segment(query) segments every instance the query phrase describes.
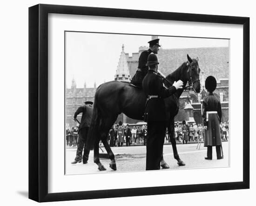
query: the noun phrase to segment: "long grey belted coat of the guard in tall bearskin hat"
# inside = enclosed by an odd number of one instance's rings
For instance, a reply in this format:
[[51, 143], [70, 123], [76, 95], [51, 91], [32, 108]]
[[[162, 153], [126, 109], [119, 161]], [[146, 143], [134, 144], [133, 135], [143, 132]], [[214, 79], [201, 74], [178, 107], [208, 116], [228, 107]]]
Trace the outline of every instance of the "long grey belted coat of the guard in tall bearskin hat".
[[[206, 112], [216, 111], [217, 113], [209, 114], [206, 121]], [[202, 102], [203, 125], [207, 126], [204, 135], [204, 146], [221, 145], [220, 122], [222, 118], [221, 102], [213, 93], [209, 93]]]

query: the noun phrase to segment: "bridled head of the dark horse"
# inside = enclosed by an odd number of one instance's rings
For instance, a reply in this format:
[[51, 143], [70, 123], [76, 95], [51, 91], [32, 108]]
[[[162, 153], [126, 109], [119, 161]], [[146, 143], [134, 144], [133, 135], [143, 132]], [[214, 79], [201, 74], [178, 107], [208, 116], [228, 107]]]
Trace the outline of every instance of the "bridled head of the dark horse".
[[189, 87], [196, 92], [200, 92], [200, 68], [198, 65], [198, 57], [196, 59], [191, 59], [189, 54], [187, 54], [188, 63], [187, 63], [187, 78], [189, 81]]

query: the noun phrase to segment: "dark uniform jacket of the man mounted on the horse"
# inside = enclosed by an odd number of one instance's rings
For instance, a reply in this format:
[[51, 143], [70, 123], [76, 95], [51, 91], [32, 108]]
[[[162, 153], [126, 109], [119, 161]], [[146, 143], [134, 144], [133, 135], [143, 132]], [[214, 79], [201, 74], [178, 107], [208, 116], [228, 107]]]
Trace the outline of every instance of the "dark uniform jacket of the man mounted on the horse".
[[148, 55], [150, 53], [152, 53], [150, 49], [141, 53], [139, 57], [139, 64], [138, 64], [138, 69], [140, 69], [141, 71], [136, 71], [134, 77], [131, 80], [132, 84], [137, 82], [142, 82], [143, 78], [148, 73], [148, 66], [146, 66], [146, 64], [148, 62]]

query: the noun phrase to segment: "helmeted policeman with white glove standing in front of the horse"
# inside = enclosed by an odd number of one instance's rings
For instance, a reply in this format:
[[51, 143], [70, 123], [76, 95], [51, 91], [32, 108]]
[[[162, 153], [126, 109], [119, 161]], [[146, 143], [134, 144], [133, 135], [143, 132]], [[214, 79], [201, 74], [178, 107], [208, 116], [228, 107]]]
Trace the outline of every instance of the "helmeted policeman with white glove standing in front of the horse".
[[163, 86], [162, 77], [157, 74], [158, 60], [154, 53], [149, 54], [147, 66], [149, 70], [142, 81], [142, 88], [148, 97], [144, 120], [148, 122], [148, 142], [146, 155], [146, 170], [159, 170], [162, 148], [167, 127], [168, 115], [164, 99], [181, 89], [183, 82], [175, 81], [168, 89]]

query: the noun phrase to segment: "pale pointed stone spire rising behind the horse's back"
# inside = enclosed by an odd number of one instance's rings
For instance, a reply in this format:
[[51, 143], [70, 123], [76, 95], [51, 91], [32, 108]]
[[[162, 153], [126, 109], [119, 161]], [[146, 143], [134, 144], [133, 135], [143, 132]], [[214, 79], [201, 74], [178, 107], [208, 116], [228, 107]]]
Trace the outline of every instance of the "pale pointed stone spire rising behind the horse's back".
[[129, 82], [131, 79], [126, 55], [124, 53], [124, 45], [122, 45], [122, 51], [119, 57], [119, 62], [116, 69], [115, 80]]

